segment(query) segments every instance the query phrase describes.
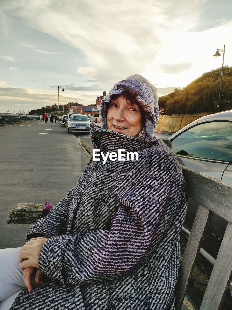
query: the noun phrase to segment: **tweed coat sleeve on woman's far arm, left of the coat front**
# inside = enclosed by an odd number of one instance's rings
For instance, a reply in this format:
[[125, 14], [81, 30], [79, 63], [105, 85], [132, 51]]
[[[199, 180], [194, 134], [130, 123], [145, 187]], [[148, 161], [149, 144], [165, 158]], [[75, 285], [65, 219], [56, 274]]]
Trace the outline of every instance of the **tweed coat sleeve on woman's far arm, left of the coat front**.
[[[80, 176], [78, 181], [79, 186], [81, 186], [86, 175], [88, 174], [89, 163]], [[66, 233], [70, 204], [75, 196], [75, 191], [76, 188], [71, 189], [71, 191], [67, 193], [66, 197], [60, 200], [47, 216], [38, 220], [29, 228], [29, 231], [26, 234], [26, 239], [28, 241], [30, 238], [36, 238], [39, 236], [46, 235], [48, 237], [54, 237]]]

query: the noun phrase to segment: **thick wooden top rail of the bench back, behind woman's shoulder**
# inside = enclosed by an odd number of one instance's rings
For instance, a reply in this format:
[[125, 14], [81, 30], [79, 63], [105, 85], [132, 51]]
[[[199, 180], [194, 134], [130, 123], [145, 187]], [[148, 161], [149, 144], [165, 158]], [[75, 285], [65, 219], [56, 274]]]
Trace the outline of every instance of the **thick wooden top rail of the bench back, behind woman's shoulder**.
[[186, 195], [232, 223], [232, 185], [185, 166], [181, 168]]

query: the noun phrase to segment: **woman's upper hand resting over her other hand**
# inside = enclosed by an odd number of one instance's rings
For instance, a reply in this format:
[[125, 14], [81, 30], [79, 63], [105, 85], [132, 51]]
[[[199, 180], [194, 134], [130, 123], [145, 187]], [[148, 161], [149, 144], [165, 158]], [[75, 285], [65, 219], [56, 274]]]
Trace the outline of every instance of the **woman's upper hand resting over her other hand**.
[[39, 269], [40, 251], [46, 240], [47, 238], [44, 237], [32, 238], [26, 242], [25, 246], [22, 246], [19, 253], [19, 260], [21, 261], [19, 264], [20, 268], [35, 267]]

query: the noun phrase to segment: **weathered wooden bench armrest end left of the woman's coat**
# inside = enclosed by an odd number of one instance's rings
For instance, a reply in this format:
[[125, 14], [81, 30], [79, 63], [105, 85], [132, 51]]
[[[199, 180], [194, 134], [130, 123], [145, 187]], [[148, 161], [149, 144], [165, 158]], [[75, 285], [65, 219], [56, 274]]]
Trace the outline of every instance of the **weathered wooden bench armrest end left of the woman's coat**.
[[[8, 224], [31, 224], [41, 218], [44, 205], [36, 203], [17, 203], [11, 208], [8, 216]], [[54, 206], [50, 207], [52, 210]]]

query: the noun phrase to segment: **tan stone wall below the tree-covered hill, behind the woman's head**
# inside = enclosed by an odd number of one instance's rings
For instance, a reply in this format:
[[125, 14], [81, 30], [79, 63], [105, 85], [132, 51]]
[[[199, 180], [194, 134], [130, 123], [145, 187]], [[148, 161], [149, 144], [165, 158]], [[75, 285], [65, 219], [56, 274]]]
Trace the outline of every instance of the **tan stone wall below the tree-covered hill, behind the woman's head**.
[[191, 122], [195, 121], [196, 119], [213, 114], [211, 113], [193, 113], [193, 114], [172, 114], [172, 116], [169, 115], [163, 115], [160, 116], [159, 122], [156, 126], [156, 130], [159, 131], [166, 131], [170, 133], [177, 132], [184, 126], [190, 124]]

